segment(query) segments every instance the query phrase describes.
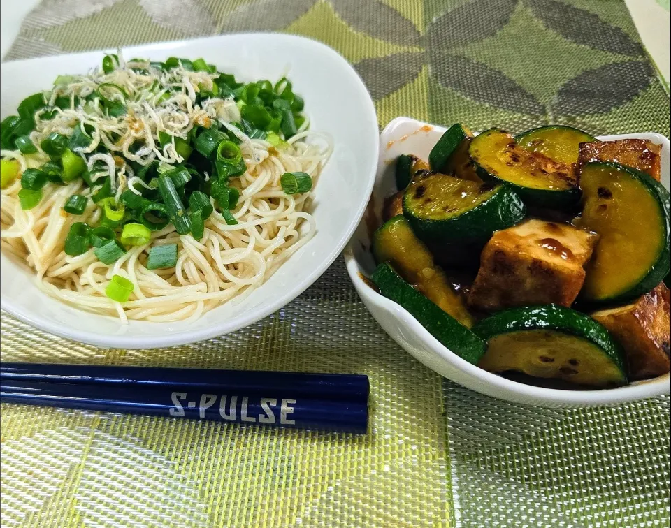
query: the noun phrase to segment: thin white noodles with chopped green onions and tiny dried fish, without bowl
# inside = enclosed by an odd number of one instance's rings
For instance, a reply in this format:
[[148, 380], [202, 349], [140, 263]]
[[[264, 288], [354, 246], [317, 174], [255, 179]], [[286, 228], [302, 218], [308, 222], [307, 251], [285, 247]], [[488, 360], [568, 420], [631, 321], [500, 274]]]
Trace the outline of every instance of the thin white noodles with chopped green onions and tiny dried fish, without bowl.
[[243, 85], [202, 59], [62, 75], [2, 122], [1, 249], [75, 307], [198, 318], [315, 234], [332, 147], [302, 110], [287, 79]]

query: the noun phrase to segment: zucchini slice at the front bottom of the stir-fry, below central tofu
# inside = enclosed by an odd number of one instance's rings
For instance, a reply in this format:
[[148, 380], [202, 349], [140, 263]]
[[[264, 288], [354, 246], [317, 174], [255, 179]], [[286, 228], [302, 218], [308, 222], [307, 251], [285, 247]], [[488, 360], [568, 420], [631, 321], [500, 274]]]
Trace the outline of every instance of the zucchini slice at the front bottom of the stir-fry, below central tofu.
[[589, 316], [557, 305], [500, 311], [473, 327], [487, 342], [478, 366], [523, 372], [582, 386], [627, 382], [625, 356], [608, 330]]

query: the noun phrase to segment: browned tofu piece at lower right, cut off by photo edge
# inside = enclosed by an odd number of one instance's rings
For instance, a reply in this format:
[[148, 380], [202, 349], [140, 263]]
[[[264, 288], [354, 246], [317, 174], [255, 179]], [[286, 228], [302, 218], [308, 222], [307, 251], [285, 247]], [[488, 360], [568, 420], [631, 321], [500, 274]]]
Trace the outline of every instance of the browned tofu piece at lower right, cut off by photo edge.
[[671, 302], [665, 284], [630, 305], [597, 311], [591, 316], [623, 346], [630, 379], [654, 378], [669, 372]]

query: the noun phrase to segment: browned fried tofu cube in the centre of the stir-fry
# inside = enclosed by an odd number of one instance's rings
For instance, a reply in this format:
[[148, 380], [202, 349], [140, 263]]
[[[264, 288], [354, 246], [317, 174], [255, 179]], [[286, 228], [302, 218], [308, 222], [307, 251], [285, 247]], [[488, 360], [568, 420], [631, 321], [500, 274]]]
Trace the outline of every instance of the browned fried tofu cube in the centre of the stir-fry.
[[482, 311], [556, 303], [569, 307], [585, 281], [596, 233], [568, 223], [527, 220], [494, 233], [468, 296]]

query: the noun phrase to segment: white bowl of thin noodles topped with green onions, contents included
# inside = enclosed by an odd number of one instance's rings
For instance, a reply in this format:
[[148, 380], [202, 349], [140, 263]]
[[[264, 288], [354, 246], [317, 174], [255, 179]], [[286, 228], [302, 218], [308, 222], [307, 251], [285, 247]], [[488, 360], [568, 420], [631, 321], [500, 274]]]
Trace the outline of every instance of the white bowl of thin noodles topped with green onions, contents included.
[[113, 348], [293, 300], [366, 208], [377, 120], [306, 38], [241, 34], [1, 66], [1, 303]]

